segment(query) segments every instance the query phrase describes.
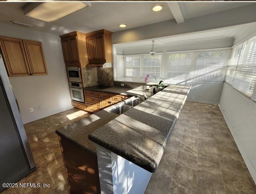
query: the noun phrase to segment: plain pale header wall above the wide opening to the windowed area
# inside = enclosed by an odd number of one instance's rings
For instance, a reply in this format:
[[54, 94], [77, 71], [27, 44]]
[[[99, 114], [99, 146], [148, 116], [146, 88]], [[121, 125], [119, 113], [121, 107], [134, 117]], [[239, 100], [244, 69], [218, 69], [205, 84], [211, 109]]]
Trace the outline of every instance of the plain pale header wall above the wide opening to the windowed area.
[[112, 34], [112, 43], [133, 42], [255, 22], [255, 10], [256, 3], [204, 16], [189, 18], [186, 19], [184, 23], [180, 24], [177, 24], [175, 20], [168, 20], [122, 30]]

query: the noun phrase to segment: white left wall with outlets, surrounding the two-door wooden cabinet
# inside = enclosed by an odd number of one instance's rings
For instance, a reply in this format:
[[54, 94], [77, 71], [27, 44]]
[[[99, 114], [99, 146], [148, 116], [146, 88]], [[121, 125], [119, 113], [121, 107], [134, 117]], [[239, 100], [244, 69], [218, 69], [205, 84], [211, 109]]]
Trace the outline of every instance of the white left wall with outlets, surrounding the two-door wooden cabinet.
[[[48, 75], [9, 77], [24, 124], [73, 108], [58, 36], [14, 24], [0, 24], [0, 36], [42, 42]], [[34, 112], [29, 112], [30, 107]]]

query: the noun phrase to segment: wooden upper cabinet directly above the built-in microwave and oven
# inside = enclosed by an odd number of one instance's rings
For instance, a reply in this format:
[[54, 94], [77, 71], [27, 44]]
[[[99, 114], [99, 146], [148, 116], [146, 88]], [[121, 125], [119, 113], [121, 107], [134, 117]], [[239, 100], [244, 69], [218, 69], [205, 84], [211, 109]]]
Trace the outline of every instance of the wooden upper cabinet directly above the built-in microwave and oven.
[[65, 64], [85, 67], [88, 63], [86, 36], [81, 32], [70, 32], [60, 36]]

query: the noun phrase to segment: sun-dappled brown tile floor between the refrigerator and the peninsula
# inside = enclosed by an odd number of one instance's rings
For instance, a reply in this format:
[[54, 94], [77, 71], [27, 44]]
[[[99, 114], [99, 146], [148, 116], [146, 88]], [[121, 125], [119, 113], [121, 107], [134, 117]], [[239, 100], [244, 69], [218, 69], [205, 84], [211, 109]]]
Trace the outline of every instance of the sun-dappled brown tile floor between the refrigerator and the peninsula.
[[62, 160], [57, 128], [85, 118], [90, 114], [73, 108], [34, 122], [25, 124], [36, 171], [18, 183], [46, 183], [50, 188], [8, 188], [3, 194], [67, 194], [69, 188]]

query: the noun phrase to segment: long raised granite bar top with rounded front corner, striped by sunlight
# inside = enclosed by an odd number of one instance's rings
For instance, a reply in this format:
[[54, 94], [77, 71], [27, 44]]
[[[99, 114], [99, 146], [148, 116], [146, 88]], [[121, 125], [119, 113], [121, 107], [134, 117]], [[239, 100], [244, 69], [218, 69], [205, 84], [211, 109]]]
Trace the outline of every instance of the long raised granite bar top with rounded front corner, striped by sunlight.
[[89, 139], [155, 172], [189, 90], [190, 86], [170, 85], [101, 126]]

